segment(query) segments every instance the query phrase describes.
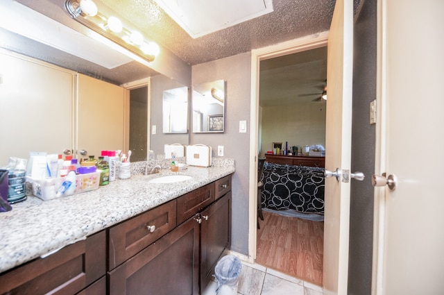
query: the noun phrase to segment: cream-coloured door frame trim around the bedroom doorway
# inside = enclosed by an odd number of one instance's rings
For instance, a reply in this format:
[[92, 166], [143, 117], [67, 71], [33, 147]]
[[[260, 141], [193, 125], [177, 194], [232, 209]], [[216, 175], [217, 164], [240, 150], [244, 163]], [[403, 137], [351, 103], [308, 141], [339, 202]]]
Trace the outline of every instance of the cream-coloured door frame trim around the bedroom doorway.
[[[268, 60], [271, 58], [277, 58], [280, 56], [287, 56], [292, 53], [308, 51], [310, 49], [317, 49], [320, 47], [327, 46], [327, 32], [304, 37], [299, 40], [293, 40], [291, 42], [286, 42], [284, 44], [278, 44], [273, 47], [267, 47], [266, 49], [257, 49], [252, 52], [252, 97], [256, 99], [252, 99], [251, 101], [251, 109], [250, 109], [250, 121], [252, 130], [250, 133], [250, 154], [257, 155], [258, 152], [261, 151], [259, 147], [259, 80], [260, 80], [260, 62], [262, 60]], [[255, 75], [255, 76], [254, 76]], [[263, 155], [264, 151], [262, 151]], [[252, 253], [252, 258], [255, 260], [257, 258], [257, 230], [253, 230], [253, 228], [257, 228], [257, 197], [255, 193], [257, 189], [255, 189], [255, 185], [257, 184], [257, 159], [254, 158], [250, 160], [250, 239], [248, 244], [249, 253]], [[256, 167], [256, 168], [253, 168]], [[321, 285], [321, 284], [320, 284]]]

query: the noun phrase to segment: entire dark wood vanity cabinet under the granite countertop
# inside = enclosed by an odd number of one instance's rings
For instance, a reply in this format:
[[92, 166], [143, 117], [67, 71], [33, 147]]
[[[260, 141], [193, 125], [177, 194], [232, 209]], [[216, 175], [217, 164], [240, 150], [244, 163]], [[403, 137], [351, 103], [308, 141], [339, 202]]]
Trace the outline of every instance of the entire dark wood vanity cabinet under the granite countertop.
[[200, 294], [231, 244], [231, 199], [229, 175], [1, 273], [0, 294]]

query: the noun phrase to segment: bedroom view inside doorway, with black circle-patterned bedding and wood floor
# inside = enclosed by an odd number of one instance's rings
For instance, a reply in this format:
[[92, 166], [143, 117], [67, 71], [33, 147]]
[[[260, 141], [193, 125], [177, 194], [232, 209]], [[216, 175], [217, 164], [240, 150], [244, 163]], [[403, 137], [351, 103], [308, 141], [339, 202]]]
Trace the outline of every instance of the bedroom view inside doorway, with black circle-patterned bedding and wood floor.
[[[300, 150], [325, 146], [327, 47], [261, 60], [259, 73], [258, 146], [266, 165], [256, 263], [322, 285], [323, 160], [309, 162]], [[271, 156], [276, 142], [280, 155]]]

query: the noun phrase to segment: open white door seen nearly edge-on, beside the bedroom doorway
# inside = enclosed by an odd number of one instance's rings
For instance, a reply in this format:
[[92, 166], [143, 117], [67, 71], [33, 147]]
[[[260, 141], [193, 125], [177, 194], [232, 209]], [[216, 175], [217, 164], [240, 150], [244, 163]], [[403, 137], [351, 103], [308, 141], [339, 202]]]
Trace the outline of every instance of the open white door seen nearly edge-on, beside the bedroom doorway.
[[[353, 3], [338, 0], [327, 43], [325, 169], [350, 169]], [[347, 294], [350, 183], [325, 178], [324, 294]]]

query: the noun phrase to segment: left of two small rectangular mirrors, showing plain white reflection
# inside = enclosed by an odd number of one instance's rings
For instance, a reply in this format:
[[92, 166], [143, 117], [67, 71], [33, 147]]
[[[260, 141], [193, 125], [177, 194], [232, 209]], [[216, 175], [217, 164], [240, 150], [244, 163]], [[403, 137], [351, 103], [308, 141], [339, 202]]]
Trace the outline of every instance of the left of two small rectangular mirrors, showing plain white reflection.
[[164, 90], [162, 116], [164, 133], [188, 132], [188, 87]]

